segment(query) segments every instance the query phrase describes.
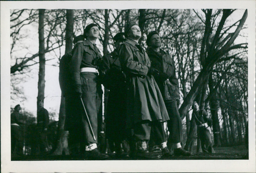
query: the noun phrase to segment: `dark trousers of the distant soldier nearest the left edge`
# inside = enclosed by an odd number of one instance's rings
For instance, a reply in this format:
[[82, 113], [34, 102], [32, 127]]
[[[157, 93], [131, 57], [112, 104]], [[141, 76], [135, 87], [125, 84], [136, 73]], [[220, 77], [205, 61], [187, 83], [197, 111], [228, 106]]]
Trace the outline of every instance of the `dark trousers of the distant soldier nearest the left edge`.
[[16, 153], [22, 153], [23, 145], [20, 134], [20, 126], [11, 125], [11, 153], [15, 152], [15, 147]]

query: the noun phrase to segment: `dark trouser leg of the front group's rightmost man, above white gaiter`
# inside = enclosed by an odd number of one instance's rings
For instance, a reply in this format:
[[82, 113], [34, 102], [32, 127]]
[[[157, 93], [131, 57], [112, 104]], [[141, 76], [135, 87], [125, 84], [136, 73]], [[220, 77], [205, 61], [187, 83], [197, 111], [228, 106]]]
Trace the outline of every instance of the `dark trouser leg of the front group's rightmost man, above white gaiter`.
[[167, 127], [170, 132], [168, 142], [177, 144], [182, 141], [182, 124], [177, 100], [165, 102], [165, 107], [170, 118], [170, 120], [167, 121]]

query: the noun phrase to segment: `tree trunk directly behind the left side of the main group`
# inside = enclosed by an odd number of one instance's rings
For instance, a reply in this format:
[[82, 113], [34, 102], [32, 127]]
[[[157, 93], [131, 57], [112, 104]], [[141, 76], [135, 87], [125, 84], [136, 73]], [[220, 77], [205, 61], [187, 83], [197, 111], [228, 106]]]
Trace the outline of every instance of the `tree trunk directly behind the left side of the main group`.
[[[66, 10], [66, 46], [65, 46], [65, 53], [72, 51], [73, 45], [73, 28], [74, 28], [74, 11], [73, 10]], [[57, 132], [57, 145], [56, 149], [54, 150], [53, 154], [61, 155], [69, 154], [68, 149], [68, 131], [64, 131], [64, 124], [65, 124], [65, 98], [61, 94], [60, 100], [60, 113], [59, 113], [59, 122], [58, 122], [58, 132]]]

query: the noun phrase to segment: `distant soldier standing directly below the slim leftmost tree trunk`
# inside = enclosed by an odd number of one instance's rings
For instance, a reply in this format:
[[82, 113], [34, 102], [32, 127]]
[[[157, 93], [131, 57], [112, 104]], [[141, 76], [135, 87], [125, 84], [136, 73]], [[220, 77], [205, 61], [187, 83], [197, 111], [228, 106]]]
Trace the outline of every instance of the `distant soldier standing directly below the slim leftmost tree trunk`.
[[39, 133], [39, 148], [41, 152], [48, 152], [47, 129], [49, 125], [49, 113], [44, 108], [44, 101], [39, 100], [37, 110], [37, 128]]

